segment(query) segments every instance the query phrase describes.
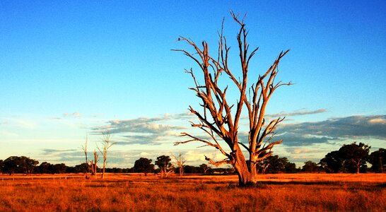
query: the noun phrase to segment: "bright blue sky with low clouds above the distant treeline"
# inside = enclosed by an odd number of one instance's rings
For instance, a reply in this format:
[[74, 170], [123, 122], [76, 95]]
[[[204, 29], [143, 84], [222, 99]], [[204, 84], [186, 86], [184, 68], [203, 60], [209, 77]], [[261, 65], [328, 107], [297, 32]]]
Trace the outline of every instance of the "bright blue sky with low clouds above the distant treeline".
[[75, 165], [100, 129], [117, 142], [108, 166], [179, 152], [192, 165], [204, 154], [221, 159], [200, 143], [172, 146], [180, 132], [199, 132], [189, 128], [187, 107], [198, 100], [184, 73], [197, 66], [170, 49], [189, 49], [175, 42], [182, 35], [216, 54], [225, 18], [238, 73], [230, 10], [247, 12], [249, 43], [259, 47], [251, 76], [291, 49], [279, 78], [295, 85], [267, 111], [287, 117], [275, 153], [301, 165], [343, 143], [386, 147], [385, 1], [0, 1], [0, 159]]

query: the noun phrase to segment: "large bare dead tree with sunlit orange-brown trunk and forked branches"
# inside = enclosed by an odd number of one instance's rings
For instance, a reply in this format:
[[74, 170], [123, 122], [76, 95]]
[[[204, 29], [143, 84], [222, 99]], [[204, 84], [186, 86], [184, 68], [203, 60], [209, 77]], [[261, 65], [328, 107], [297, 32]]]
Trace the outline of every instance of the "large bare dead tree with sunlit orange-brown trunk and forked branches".
[[[233, 165], [238, 172], [240, 186], [244, 186], [257, 182], [257, 162], [271, 155], [271, 148], [282, 141], [282, 139], [278, 141], [274, 141], [273, 139], [276, 134], [274, 130], [277, 124], [283, 121], [284, 117], [278, 117], [266, 123], [264, 114], [267, 103], [274, 91], [281, 86], [291, 85], [291, 82], [282, 83], [281, 81], [275, 81], [276, 75], [279, 73], [279, 61], [289, 50], [281, 52], [269, 69], [258, 76], [255, 83], [248, 85], [247, 76], [250, 69], [250, 60], [259, 48], [257, 47], [249, 53], [250, 45], [247, 44], [248, 32], [244, 23], [245, 16], [240, 19], [238, 15], [235, 15], [233, 12], [230, 12], [230, 15], [240, 26], [237, 35], [241, 65], [239, 77], [235, 75], [235, 72], [231, 71], [230, 66], [228, 66], [230, 47], [228, 47], [226, 37], [223, 35], [223, 24], [221, 32], [218, 33], [218, 54], [216, 57], [210, 56], [209, 46], [205, 41], [202, 42], [202, 48], [200, 48], [193, 40], [187, 37], [180, 37], [178, 40], [187, 42], [187, 44], [192, 47], [192, 52], [188, 52], [185, 49], [173, 49], [174, 51], [183, 52], [187, 57], [195, 61], [199, 66], [201, 74], [203, 74], [204, 83], [201, 84], [199, 79], [196, 78], [197, 75], [193, 72], [193, 69], [185, 69], [194, 81], [194, 87], [189, 89], [194, 90], [197, 97], [201, 99], [200, 106], [202, 107], [202, 112], [198, 112], [189, 106], [190, 112], [195, 114], [199, 119], [199, 122], [192, 123], [192, 126], [203, 130], [209, 135], [209, 138], [211, 138], [203, 139], [199, 136], [184, 132], [182, 136], [189, 137], [189, 139], [187, 141], [176, 142], [175, 145], [199, 141], [204, 143], [204, 146], [211, 146], [218, 149], [218, 151], [225, 155], [225, 160], [214, 161], [211, 160], [211, 158], [206, 158], [206, 160], [209, 160], [210, 164], [216, 166], [222, 164]], [[235, 90], [238, 90], [238, 101], [235, 105], [231, 105], [231, 103], [227, 101], [226, 94], [228, 86], [225, 88], [221, 88], [220, 86], [221, 83], [219, 80], [221, 76], [224, 75], [230, 78], [235, 86]], [[247, 141], [240, 141], [238, 134], [240, 128], [239, 122], [242, 109], [245, 107], [247, 110], [247, 120], [249, 122], [249, 133]], [[220, 144], [220, 140], [226, 143], [230, 149], [229, 151], [221, 146], [223, 143]], [[248, 159], [250, 165], [247, 165], [247, 160], [241, 148], [245, 148], [245, 151], [249, 154]]]

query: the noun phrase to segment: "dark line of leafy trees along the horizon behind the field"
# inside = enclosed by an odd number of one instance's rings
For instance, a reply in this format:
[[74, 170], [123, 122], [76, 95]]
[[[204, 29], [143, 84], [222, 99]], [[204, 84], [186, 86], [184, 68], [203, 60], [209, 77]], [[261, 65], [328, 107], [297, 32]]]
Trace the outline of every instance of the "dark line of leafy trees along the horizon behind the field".
[[[296, 167], [288, 158], [281, 158], [279, 155], [271, 155], [257, 164], [259, 173], [295, 173], [295, 172], [385, 172], [386, 171], [386, 150], [380, 148], [369, 154], [370, 146], [364, 143], [351, 143], [342, 146], [337, 151], [327, 153], [315, 163], [310, 160], [304, 163], [303, 167]], [[181, 167], [174, 167], [170, 163], [170, 157], [161, 155], [153, 165], [151, 159], [139, 158], [131, 168], [106, 167], [105, 172], [110, 173], [148, 173], [161, 174], [161, 177], [168, 173], [179, 173]], [[371, 168], [368, 167], [371, 164]], [[233, 167], [211, 167], [206, 164], [199, 166], [183, 165], [185, 174], [235, 174]], [[81, 163], [74, 167], [69, 167], [64, 163], [51, 164], [39, 161], [25, 156], [11, 156], [6, 160], [0, 160], [0, 173], [2, 174], [63, 174], [63, 173], [86, 173], [90, 170], [90, 165]], [[97, 168], [100, 172], [100, 168]]]

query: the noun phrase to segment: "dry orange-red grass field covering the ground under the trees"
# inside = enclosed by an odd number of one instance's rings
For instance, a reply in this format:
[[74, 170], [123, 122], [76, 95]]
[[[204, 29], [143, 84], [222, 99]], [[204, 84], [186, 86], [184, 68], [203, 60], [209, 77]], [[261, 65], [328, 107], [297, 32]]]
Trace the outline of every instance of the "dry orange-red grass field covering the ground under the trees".
[[0, 211], [386, 211], [385, 174], [261, 177], [0, 175]]

